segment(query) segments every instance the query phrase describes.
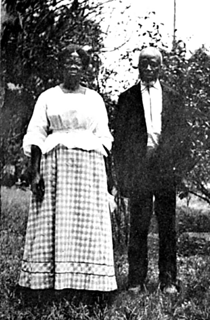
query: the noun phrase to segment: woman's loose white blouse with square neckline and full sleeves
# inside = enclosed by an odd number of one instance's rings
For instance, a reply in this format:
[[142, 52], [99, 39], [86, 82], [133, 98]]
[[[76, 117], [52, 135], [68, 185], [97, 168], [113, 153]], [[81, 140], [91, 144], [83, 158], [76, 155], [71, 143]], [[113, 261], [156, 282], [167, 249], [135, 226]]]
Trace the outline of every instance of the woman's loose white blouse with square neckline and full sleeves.
[[30, 156], [34, 144], [44, 154], [61, 143], [67, 148], [98, 150], [107, 155], [103, 146], [110, 150], [112, 141], [106, 108], [96, 91], [86, 88], [85, 94], [64, 93], [56, 86], [38, 97], [23, 150]]

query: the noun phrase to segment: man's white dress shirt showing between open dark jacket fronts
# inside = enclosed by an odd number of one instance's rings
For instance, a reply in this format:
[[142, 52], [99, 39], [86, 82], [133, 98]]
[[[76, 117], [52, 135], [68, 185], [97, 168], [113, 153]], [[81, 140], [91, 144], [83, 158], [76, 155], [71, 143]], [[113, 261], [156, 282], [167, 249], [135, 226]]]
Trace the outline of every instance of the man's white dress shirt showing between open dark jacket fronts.
[[141, 82], [140, 87], [148, 134], [147, 146], [155, 147], [161, 133], [162, 89], [158, 80], [149, 87]]

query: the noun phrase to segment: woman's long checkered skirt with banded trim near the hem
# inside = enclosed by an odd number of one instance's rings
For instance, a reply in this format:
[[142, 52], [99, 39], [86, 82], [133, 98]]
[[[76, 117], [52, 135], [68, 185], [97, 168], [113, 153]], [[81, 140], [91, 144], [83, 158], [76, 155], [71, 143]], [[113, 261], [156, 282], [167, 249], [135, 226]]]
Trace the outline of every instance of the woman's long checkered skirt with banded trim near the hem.
[[19, 285], [116, 289], [102, 154], [59, 144], [42, 155], [41, 174], [45, 194], [31, 196]]

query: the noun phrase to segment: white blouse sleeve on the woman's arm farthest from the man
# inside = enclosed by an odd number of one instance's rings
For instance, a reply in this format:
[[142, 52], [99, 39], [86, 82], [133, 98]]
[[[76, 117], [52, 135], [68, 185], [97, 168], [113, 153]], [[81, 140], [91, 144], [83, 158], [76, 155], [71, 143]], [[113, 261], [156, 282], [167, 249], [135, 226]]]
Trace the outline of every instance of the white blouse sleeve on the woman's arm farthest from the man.
[[41, 94], [34, 106], [33, 114], [23, 137], [24, 154], [30, 156], [31, 144], [37, 145], [41, 150], [47, 136], [48, 120], [46, 115], [46, 102]]

